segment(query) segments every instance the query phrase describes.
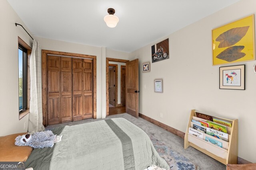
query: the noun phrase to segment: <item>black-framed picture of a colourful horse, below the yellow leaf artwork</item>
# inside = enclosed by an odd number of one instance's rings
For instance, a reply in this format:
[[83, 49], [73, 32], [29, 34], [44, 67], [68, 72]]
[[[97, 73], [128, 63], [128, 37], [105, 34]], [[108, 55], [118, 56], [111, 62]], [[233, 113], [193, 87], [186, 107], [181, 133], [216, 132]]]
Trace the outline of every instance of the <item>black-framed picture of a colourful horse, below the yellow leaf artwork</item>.
[[220, 89], [245, 90], [245, 64], [220, 67]]

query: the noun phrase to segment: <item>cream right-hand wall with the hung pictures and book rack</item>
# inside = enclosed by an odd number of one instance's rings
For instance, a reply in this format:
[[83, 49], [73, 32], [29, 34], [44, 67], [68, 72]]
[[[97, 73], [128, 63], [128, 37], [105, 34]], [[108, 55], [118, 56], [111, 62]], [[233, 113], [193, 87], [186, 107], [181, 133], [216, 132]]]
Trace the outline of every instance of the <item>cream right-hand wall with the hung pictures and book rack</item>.
[[[139, 112], [183, 132], [191, 109], [238, 119], [238, 156], [256, 162], [256, 75], [252, 71], [256, 62], [223, 65], [246, 64], [246, 90], [220, 90], [220, 66], [212, 66], [211, 49], [212, 29], [255, 14], [255, 6], [255, 0], [242, 0], [131, 53], [130, 59], [140, 61]], [[170, 59], [152, 63], [151, 46], [166, 38]], [[151, 70], [142, 73], [146, 61]], [[156, 78], [163, 78], [163, 93], [154, 93]]]

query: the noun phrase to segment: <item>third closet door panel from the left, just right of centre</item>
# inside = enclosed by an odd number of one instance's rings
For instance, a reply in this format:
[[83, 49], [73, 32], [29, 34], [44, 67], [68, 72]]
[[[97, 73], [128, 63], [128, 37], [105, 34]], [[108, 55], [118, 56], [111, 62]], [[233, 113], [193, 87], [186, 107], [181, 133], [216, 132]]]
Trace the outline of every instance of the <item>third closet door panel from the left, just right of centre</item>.
[[72, 86], [73, 86], [73, 105], [72, 105], [72, 114], [73, 121], [82, 120], [82, 59], [72, 58]]

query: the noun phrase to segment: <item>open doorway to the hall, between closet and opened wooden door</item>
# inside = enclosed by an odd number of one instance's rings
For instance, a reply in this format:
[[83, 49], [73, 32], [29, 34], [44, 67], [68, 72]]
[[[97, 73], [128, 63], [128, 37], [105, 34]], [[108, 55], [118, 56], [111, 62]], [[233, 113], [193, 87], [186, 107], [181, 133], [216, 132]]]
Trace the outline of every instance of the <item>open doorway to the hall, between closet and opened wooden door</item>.
[[106, 112], [108, 115], [126, 113], [126, 62], [106, 59]]

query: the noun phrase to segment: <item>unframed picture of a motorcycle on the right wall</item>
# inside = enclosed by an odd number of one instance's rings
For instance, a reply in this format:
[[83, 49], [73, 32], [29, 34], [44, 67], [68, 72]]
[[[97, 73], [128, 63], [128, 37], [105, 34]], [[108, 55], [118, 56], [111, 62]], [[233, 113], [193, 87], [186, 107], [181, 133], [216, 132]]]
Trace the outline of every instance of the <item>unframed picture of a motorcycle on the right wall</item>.
[[169, 39], [151, 46], [152, 63], [169, 59]]

